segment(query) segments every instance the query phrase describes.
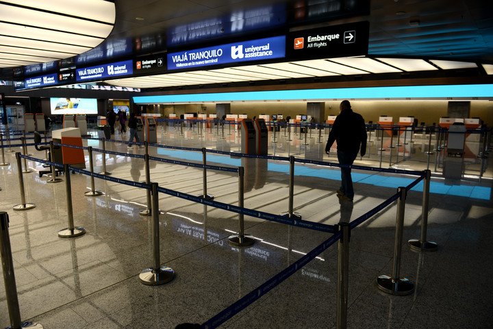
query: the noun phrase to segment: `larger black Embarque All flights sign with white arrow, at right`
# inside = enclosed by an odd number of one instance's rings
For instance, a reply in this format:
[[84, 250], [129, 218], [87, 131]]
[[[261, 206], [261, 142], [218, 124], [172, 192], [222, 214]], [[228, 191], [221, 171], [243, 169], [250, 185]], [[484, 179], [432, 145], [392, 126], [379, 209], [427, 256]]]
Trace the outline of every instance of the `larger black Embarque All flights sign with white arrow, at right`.
[[368, 31], [368, 22], [358, 22], [292, 32], [288, 38], [288, 59], [367, 55]]

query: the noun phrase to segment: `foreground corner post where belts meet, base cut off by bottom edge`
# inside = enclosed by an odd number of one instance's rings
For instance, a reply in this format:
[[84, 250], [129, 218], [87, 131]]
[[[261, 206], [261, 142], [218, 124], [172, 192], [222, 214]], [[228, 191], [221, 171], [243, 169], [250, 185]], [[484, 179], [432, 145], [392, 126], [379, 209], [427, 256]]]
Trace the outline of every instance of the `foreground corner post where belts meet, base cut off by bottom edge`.
[[351, 229], [349, 223], [340, 222], [339, 229], [342, 236], [338, 244], [338, 301], [337, 301], [337, 328], [347, 328], [348, 281], [349, 281], [349, 237]]

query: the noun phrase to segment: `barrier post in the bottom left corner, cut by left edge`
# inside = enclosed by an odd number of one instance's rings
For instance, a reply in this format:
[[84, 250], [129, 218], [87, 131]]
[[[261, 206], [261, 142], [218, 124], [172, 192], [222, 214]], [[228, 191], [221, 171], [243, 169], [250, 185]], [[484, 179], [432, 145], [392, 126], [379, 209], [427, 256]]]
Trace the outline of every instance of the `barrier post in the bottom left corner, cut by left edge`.
[[10, 236], [8, 232], [9, 218], [8, 213], [0, 211], [0, 255], [3, 269], [3, 282], [5, 283], [5, 296], [7, 299], [8, 313], [10, 317], [10, 327], [36, 328], [42, 329], [43, 326], [30, 321], [21, 321], [21, 311], [18, 304], [17, 287], [14, 274], [14, 262], [12, 261], [12, 248], [10, 247]]

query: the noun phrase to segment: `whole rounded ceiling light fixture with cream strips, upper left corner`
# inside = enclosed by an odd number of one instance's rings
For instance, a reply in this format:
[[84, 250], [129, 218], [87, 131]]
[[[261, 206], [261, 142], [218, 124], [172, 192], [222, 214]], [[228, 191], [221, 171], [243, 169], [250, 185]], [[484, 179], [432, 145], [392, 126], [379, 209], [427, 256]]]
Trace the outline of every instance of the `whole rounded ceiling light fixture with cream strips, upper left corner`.
[[115, 15], [104, 0], [0, 1], [0, 68], [84, 53], [108, 37]]

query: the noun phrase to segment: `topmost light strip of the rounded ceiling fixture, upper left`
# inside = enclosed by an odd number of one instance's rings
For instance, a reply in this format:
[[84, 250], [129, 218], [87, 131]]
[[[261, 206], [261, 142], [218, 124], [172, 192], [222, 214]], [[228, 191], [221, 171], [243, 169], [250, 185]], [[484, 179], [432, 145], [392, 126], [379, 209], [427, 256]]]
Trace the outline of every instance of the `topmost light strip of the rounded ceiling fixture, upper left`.
[[56, 12], [77, 17], [89, 18], [94, 21], [114, 24], [115, 5], [113, 1], [94, 0], [5, 0], [5, 3], [21, 5], [24, 7]]

